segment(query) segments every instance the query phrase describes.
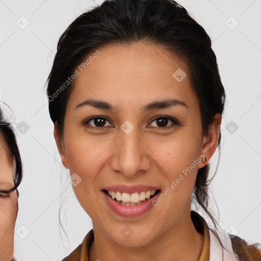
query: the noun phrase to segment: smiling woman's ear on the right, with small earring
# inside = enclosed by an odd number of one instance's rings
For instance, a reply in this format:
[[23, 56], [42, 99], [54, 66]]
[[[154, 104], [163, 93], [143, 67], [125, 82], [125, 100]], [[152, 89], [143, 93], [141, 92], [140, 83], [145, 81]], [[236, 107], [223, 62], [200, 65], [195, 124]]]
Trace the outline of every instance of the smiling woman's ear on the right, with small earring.
[[199, 168], [203, 168], [213, 156], [219, 138], [219, 130], [220, 130], [220, 123], [221, 123], [221, 115], [219, 113], [215, 114], [213, 123], [211, 124], [210, 129], [208, 130], [208, 134], [203, 137], [201, 154], [205, 157], [205, 162], [202, 161], [199, 164]]

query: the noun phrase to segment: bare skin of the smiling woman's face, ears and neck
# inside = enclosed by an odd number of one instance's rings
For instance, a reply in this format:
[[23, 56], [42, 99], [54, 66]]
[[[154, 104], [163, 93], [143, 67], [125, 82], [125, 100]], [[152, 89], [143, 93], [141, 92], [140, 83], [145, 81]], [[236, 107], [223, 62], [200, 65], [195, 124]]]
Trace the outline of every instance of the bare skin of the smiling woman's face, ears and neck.
[[[165, 191], [194, 160], [212, 157], [218, 141], [220, 115], [207, 136], [202, 135], [199, 103], [192, 91], [186, 64], [163, 47], [145, 42], [107, 45], [76, 77], [69, 97], [63, 137], [54, 135], [63, 165], [82, 178], [73, 187], [80, 204], [93, 221], [95, 243], [90, 260], [198, 260], [203, 245], [191, 220], [191, 194], [200, 162], [158, 206], [145, 215], [124, 218], [108, 206], [101, 188], [111, 185], [150, 185]], [[177, 82], [178, 68], [187, 76]], [[75, 107], [86, 99], [104, 100], [115, 111], [91, 106]], [[184, 106], [142, 112], [153, 101], [175, 98]], [[167, 127], [156, 116], [170, 116]], [[103, 129], [92, 116], [108, 119]], [[120, 126], [134, 126], [125, 134]], [[93, 126], [93, 127], [92, 127]], [[92, 128], [91, 128], [92, 127]], [[121, 230], [133, 230], [124, 238]], [[152, 258], [153, 257], [153, 258]]]

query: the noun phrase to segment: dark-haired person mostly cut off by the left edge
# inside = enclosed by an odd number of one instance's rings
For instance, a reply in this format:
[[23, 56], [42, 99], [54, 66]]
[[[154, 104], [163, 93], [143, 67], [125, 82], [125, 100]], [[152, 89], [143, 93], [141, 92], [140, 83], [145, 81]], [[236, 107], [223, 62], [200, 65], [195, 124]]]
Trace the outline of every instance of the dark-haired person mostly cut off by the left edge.
[[0, 109], [0, 260], [14, 261], [14, 227], [22, 165], [15, 134]]

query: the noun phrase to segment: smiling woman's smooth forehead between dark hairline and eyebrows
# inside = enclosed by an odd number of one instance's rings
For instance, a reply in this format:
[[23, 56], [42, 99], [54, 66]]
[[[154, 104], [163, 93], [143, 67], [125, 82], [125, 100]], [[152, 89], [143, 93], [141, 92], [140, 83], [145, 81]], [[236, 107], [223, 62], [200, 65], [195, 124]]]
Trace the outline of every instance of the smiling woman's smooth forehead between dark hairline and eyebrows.
[[121, 106], [122, 102], [135, 101], [139, 106], [170, 96], [188, 102], [195, 100], [185, 61], [164, 47], [139, 42], [107, 45], [98, 50], [98, 56], [93, 55], [97, 51], [94, 50], [83, 60], [82, 67], [76, 68], [79, 75], [74, 81], [71, 102], [79, 103], [85, 96]]

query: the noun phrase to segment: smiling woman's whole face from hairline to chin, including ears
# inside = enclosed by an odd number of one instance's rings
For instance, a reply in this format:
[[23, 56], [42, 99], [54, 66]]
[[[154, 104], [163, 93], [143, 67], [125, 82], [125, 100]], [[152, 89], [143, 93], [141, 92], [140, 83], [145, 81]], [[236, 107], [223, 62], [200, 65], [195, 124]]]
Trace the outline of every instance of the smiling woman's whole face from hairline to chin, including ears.
[[[77, 69], [61, 147], [57, 129], [55, 137], [94, 231], [124, 246], [146, 245], [188, 222], [196, 174], [203, 155], [214, 153], [219, 125], [214, 138], [202, 136], [186, 64], [162, 47], [133, 43], [99, 51]], [[138, 205], [107, 194], [137, 202], [155, 190], [160, 193]]]

